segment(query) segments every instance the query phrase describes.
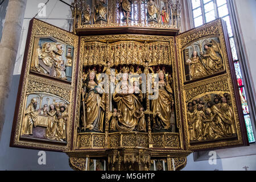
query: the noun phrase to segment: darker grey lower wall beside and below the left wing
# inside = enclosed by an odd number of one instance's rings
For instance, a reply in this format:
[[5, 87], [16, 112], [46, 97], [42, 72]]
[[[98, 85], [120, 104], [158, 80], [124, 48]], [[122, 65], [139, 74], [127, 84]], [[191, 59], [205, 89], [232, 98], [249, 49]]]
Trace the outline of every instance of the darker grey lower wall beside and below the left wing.
[[[68, 164], [68, 155], [61, 152], [46, 151], [46, 160], [38, 150], [9, 147], [11, 127], [18, 93], [20, 75], [14, 75], [11, 82], [9, 98], [5, 105], [5, 124], [0, 141], [0, 171], [3, 170], [72, 170]], [[44, 164], [45, 163], [45, 164]]]

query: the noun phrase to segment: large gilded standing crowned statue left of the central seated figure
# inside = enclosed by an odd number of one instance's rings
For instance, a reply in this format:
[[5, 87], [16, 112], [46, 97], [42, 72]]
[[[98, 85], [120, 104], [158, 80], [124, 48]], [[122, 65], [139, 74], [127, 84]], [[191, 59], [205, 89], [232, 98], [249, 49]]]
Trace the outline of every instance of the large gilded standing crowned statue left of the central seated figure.
[[96, 72], [90, 71], [82, 88], [82, 121], [84, 131], [104, 131], [105, 93], [98, 84]]

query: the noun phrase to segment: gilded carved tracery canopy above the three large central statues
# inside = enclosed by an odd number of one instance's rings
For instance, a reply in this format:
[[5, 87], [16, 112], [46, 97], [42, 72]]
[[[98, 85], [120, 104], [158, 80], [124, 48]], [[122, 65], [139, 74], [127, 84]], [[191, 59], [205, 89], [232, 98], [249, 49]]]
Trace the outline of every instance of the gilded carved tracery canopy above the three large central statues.
[[84, 65], [106, 64], [106, 60], [111, 65], [142, 65], [144, 61], [148, 61], [150, 65], [171, 64], [168, 44], [118, 43], [107, 47], [95, 43], [86, 45], [84, 52]]

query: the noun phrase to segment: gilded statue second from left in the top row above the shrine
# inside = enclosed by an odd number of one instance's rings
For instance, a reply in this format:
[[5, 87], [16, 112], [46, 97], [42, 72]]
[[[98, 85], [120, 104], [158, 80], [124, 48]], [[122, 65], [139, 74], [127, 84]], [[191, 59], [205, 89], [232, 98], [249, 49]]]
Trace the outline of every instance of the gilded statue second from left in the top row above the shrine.
[[100, 0], [96, 6], [94, 6], [95, 12], [94, 12], [94, 22], [98, 22], [98, 20], [103, 20], [104, 22], [107, 22], [107, 3], [105, 0]]

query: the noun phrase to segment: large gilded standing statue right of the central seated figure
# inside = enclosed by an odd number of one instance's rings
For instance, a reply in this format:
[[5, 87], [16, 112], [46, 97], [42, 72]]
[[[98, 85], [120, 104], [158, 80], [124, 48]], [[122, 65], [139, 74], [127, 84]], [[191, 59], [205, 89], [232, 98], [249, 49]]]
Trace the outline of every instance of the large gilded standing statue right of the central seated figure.
[[151, 111], [155, 114], [153, 127], [155, 130], [174, 131], [175, 123], [172, 118], [174, 110], [174, 92], [166, 80], [163, 71], [159, 71], [159, 88], [154, 88], [157, 98], [151, 102]]

